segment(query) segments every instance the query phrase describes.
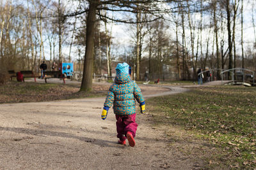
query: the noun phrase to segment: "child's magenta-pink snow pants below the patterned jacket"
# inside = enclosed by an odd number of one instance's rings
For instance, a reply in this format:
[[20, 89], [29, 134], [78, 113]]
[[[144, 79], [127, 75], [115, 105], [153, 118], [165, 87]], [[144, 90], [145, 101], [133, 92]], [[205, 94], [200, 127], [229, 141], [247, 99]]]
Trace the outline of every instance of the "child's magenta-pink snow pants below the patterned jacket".
[[128, 131], [132, 133], [133, 138], [136, 136], [138, 124], [136, 124], [135, 118], [136, 113], [126, 116], [116, 115], [117, 138], [121, 141], [125, 141]]

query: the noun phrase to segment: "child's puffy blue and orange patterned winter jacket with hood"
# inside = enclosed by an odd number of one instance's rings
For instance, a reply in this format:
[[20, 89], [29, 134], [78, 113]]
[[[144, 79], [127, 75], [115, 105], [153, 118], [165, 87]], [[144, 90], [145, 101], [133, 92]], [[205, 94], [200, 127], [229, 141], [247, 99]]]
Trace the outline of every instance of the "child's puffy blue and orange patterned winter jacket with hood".
[[140, 105], [145, 104], [140, 87], [131, 80], [129, 74], [120, 73], [109, 88], [104, 107], [111, 108], [113, 104], [116, 115], [132, 115], [135, 113], [135, 99]]

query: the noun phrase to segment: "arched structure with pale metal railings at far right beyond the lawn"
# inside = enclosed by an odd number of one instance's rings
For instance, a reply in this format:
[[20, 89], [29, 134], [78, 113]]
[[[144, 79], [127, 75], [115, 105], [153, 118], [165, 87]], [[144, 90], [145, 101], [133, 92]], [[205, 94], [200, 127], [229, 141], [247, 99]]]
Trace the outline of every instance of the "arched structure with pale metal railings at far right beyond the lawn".
[[[250, 72], [252, 74], [246, 74], [245, 71]], [[222, 71], [221, 74], [221, 85], [223, 85], [224, 80], [224, 73], [231, 74], [232, 80], [228, 82], [230, 85], [245, 85], [245, 86], [254, 86], [255, 85], [255, 76], [254, 71], [250, 69], [243, 69], [243, 68], [234, 68], [234, 69], [227, 69]], [[227, 76], [228, 77], [228, 76]]]

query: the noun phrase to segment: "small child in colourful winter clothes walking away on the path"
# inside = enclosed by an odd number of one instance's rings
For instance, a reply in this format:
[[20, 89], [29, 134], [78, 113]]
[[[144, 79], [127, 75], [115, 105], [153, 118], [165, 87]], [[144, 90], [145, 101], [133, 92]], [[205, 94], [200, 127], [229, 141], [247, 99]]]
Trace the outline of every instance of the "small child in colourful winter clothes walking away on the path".
[[119, 63], [116, 66], [115, 82], [109, 88], [101, 118], [107, 118], [108, 110], [113, 104], [118, 143], [122, 145], [125, 145], [125, 139], [128, 139], [129, 145], [135, 146], [134, 137], [138, 127], [135, 122], [135, 99], [140, 103], [141, 113], [144, 113], [145, 99], [138, 85], [129, 76], [129, 65], [125, 62]]

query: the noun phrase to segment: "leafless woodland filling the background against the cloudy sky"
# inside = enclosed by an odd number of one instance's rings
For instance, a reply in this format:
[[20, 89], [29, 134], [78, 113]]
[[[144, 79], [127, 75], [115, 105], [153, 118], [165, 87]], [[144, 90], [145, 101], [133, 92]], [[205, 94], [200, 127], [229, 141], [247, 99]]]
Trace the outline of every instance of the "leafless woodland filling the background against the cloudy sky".
[[[152, 80], [168, 74], [195, 80], [200, 67], [216, 69], [217, 76], [235, 67], [256, 71], [255, 5], [250, 0], [4, 0], [0, 71], [38, 72], [42, 60], [50, 66], [74, 62], [84, 73], [81, 90], [92, 89], [93, 73], [111, 76], [113, 62], [127, 62], [136, 80], [146, 72]], [[114, 36], [116, 25], [129, 34], [125, 45]]]

